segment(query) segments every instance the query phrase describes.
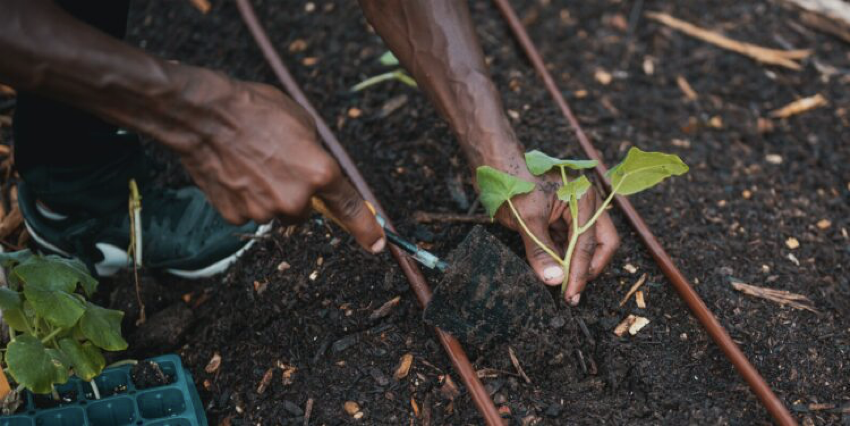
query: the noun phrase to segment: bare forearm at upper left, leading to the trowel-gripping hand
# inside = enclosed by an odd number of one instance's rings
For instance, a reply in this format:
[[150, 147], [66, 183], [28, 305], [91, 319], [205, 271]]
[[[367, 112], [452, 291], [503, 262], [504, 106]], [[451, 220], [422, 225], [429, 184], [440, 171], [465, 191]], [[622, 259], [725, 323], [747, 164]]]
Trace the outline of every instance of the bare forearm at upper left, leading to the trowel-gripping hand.
[[179, 145], [196, 139], [193, 104], [214, 73], [148, 55], [48, 0], [0, 0], [0, 10], [0, 81], [190, 149]]

